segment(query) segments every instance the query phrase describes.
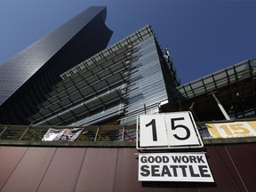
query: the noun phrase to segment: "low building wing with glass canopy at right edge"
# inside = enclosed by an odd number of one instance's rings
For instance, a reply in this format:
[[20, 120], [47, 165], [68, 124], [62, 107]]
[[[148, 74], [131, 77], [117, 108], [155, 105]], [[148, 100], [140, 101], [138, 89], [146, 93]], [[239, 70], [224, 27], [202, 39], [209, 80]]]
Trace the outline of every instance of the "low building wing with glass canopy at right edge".
[[244, 60], [229, 68], [177, 87], [181, 110], [193, 111], [197, 121], [225, 119], [214, 94], [231, 119], [256, 116], [256, 59]]

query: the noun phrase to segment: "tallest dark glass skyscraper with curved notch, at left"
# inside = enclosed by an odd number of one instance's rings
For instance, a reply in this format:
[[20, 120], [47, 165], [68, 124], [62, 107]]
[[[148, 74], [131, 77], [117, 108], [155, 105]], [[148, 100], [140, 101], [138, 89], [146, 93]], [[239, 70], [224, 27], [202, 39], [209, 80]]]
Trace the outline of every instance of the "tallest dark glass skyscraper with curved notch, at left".
[[0, 66], [0, 124], [29, 124], [60, 74], [106, 48], [106, 15], [90, 7]]

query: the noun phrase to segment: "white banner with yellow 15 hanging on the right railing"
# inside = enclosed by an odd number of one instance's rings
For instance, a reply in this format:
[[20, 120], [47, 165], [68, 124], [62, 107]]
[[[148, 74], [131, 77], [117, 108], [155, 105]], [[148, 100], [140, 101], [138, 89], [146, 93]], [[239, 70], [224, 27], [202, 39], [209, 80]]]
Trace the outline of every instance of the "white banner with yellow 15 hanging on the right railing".
[[205, 124], [212, 138], [256, 136], [256, 121]]

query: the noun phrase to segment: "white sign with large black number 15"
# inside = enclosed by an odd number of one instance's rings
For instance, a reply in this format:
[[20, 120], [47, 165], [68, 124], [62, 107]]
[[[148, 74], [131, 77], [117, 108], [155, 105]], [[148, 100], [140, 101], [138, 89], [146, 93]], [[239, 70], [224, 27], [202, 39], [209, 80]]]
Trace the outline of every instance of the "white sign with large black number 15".
[[204, 144], [191, 112], [141, 115], [137, 122], [137, 148], [191, 148]]

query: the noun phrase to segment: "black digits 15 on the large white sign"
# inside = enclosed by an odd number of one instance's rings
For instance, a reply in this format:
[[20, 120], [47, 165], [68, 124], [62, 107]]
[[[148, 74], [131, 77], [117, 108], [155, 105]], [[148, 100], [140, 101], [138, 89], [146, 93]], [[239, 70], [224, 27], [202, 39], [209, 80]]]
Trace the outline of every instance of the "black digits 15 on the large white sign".
[[[184, 124], [176, 124], [175, 125], [175, 121], [182, 121], [184, 120], [184, 117], [179, 117], [179, 118], [171, 118], [171, 128], [172, 130], [176, 130], [176, 129], [184, 129], [186, 132], [186, 136], [185, 137], [180, 137], [177, 134], [173, 134], [173, 136], [177, 139], [177, 140], [188, 140], [188, 138], [190, 137], [190, 131], [188, 129], [187, 126], [185, 126]], [[152, 119], [148, 124], [146, 124], [146, 127], [152, 125], [152, 135], [153, 135], [153, 141], [157, 141], [157, 134], [156, 134], [156, 119]]]

